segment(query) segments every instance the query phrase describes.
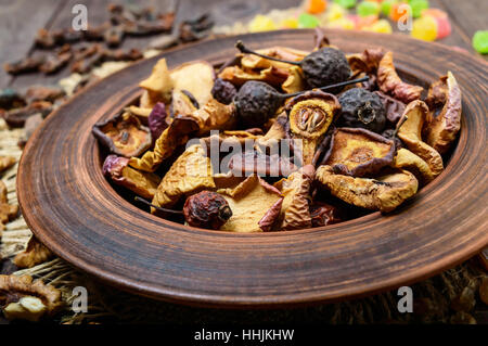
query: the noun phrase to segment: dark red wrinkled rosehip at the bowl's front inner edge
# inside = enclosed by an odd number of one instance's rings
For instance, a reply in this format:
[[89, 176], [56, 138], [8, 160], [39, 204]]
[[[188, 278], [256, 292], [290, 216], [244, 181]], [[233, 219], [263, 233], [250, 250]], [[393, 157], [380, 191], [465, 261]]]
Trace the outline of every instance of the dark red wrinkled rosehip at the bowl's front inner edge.
[[217, 192], [202, 191], [187, 198], [184, 219], [192, 227], [218, 230], [232, 216], [229, 203]]

